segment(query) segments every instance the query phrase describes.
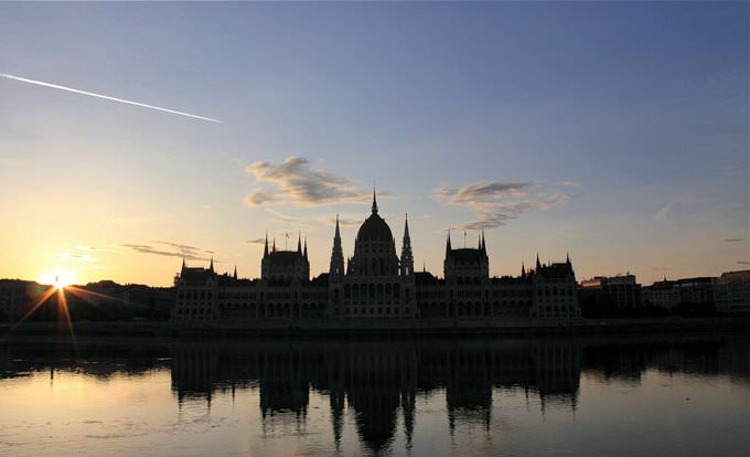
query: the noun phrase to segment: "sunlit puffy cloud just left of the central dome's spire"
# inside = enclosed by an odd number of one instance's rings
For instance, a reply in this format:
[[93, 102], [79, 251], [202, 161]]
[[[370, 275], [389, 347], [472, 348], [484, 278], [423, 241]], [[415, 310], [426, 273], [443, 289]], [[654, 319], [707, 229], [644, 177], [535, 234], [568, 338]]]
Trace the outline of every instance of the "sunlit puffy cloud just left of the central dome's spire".
[[245, 172], [256, 184], [270, 184], [274, 190], [256, 188], [245, 198], [250, 208], [272, 204], [315, 206], [332, 203], [367, 202], [369, 193], [360, 191], [354, 181], [313, 168], [301, 157], [289, 157], [279, 164], [257, 161]]

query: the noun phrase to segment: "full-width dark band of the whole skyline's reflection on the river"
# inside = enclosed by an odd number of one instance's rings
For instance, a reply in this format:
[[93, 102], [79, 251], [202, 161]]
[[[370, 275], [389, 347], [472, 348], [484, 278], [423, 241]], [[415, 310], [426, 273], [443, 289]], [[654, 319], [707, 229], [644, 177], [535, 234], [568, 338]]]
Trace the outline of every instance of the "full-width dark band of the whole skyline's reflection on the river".
[[[83, 341], [81, 358], [64, 344], [0, 344], [0, 379], [55, 371], [107, 379], [171, 370], [178, 404], [214, 396], [259, 397], [262, 429], [304, 431], [311, 395], [328, 397], [332, 439], [339, 448], [353, 426], [374, 454], [399, 431], [411, 446], [417, 398], [444, 397], [447, 431], [459, 425], [489, 433], [493, 406], [525, 395], [528, 407], [575, 413], [581, 373], [587, 380], [640, 384], [647, 370], [728, 375], [750, 383], [744, 338], [527, 338], [463, 340], [163, 340], [120, 346]], [[598, 381], [597, 381], [598, 382]], [[312, 391], [312, 392], [311, 392]], [[513, 396], [513, 395], [511, 395]], [[538, 406], [537, 406], [538, 405]]]

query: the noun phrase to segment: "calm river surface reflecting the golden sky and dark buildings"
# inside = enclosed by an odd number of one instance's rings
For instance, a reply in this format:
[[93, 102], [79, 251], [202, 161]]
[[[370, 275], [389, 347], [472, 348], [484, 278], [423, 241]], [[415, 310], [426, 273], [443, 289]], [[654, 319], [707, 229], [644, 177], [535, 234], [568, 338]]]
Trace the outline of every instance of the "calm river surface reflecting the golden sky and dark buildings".
[[0, 341], [2, 456], [750, 455], [750, 344]]

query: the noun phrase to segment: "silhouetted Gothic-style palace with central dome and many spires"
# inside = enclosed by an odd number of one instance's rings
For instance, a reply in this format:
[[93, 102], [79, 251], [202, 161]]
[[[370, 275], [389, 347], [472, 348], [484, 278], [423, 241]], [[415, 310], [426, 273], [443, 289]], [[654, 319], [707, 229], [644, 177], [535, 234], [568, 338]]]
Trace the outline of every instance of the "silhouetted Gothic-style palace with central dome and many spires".
[[570, 258], [522, 266], [516, 277], [491, 277], [484, 233], [476, 248], [446, 241], [443, 277], [415, 272], [408, 220], [400, 255], [373, 194], [369, 216], [360, 226], [354, 252], [344, 257], [339, 221], [329, 272], [310, 278], [307, 241], [297, 251], [269, 247], [266, 237], [258, 279], [182, 265], [174, 278], [175, 325], [253, 326], [264, 321], [448, 321], [580, 318]]

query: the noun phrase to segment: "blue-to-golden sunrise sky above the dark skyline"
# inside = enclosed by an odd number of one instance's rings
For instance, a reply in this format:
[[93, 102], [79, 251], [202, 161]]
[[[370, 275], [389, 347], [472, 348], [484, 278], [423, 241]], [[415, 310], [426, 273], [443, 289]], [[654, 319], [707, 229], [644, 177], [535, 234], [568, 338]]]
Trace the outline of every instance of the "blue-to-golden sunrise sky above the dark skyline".
[[[0, 3], [0, 277], [328, 270], [372, 188], [442, 275], [750, 265], [747, 2]], [[464, 236], [465, 232], [465, 236]], [[288, 234], [287, 237], [285, 234]]]

